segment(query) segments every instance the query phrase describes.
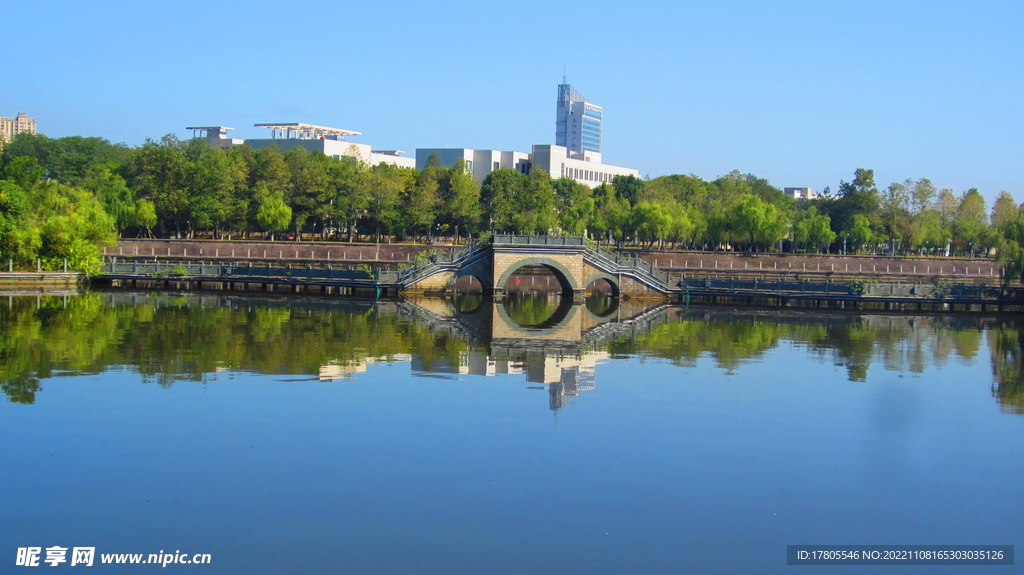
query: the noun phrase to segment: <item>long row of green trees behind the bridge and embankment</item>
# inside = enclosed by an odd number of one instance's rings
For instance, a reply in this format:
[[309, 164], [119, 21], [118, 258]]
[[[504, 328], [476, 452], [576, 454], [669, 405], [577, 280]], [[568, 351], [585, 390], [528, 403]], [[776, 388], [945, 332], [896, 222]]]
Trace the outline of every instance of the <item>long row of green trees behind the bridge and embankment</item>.
[[[570, 178], [495, 170], [477, 185], [464, 162], [423, 170], [367, 166], [302, 147], [229, 149], [168, 135], [137, 147], [19, 134], [0, 152], [0, 256], [55, 267], [98, 262], [121, 236], [432, 240], [489, 232], [584, 234], [687, 250], [975, 256], [1002, 247], [1024, 262], [1021, 207], [1001, 192], [961, 195], [928, 179], [879, 189], [858, 169], [837, 192], [794, 200], [752, 174]], [[1021, 266], [1024, 271], [1024, 265]]]

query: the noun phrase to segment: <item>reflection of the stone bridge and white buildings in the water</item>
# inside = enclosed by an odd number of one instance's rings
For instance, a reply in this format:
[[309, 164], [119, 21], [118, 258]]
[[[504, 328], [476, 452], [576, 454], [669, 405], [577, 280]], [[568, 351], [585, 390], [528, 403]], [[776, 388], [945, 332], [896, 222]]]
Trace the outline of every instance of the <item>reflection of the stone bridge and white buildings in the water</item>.
[[413, 356], [414, 371], [434, 377], [522, 374], [527, 383], [540, 384], [536, 389], [547, 389], [552, 410], [594, 389], [597, 365], [609, 358], [602, 343], [665, 322], [669, 309], [620, 302], [610, 294], [573, 304], [559, 294], [515, 292], [500, 302], [468, 293], [399, 304], [399, 313], [429, 324], [435, 334], [449, 330], [470, 344], [458, 363], [426, 365]]

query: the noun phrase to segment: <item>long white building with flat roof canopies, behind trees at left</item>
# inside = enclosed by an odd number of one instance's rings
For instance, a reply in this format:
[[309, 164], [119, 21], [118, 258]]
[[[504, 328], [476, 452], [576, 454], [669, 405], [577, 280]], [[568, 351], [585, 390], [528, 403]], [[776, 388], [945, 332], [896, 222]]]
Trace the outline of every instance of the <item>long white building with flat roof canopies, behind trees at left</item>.
[[370, 144], [346, 141], [347, 136], [358, 136], [361, 132], [354, 130], [343, 130], [341, 128], [328, 128], [313, 124], [302, 124], [298, 122], [287, 124], [256, 124], [257, 128], [267, 128], [270, 130], [269, 138], [250, 138], [240, 140], [227, 136], [226, 126], [194, 126], [185, 128], [191, 130], [195, 136], [202, 134], [212, 147], [227, 149], [237, 145], [248, 145], [253, 149], [260, 149], [275, 145], [283, 151], [288, 151], [294, 147], [304, 147], [309, 151], [319, 151], [324, 156], [341, 159], [349, 158], [356, 162], [362, 162], [370, 166], [380, 163], [390, 164], [398, 168], [414, 168], [416, 160], [402, 157], [404, 151], [400, 149], [372, 149]]

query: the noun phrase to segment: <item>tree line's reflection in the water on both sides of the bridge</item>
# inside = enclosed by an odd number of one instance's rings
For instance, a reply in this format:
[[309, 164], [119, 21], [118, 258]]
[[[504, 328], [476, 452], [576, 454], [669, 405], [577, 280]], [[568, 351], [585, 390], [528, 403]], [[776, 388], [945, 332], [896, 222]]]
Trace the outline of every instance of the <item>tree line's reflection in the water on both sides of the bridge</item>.
[[[474, 296], [453, 303], [460, 312], [489, 313]], [[213, 298], [217, 300], [217, 298]], [[315, 374], [322, 366], [365, 364], [415, 355], [425, 371], [465, 361], [469, 344], [453, 331], [402, 318], [386, 305], [339, 301], [220, 298], [198, 306], [139, 297], [109, 305], [101, 294], [13, 298], [0, 305], [0, 387], [10, 401], [32, 403], [40, 381], [61, 373], [127, 367], [146, 382], [203, 381], [221, 370]], [[159, 302], [159, 303], [158, 303]], [[552, 304], [510, 304], [512, 317], [543, 323]], [[593, 311], [593, 310], [592, 310]], [[1024, 325], [1012, 317], [854, 315], [672, 308], [666, 321], [598, 344], [610, 356], [656, 357], [677, 365], [712, 358], [726, 370], [788, 343], [864, 381], [871, 365], [922, 372], [950, 358], [990, 352], [993, 395], [1008, 411], [1024, 412]], [[477, 350], [488, 353], [488, 350]]]

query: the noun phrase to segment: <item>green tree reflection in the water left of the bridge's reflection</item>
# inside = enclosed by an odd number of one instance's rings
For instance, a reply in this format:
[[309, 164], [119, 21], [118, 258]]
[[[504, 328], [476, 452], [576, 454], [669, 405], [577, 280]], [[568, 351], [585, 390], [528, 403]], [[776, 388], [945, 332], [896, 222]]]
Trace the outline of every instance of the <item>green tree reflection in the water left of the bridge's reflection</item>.
[[97, 294], [11, 301], [0, 315], [0, 382], [11, 401], [32, 403], [56, 372], [116, 366], [162, 386], [220, 370], [317, 373], [333, 362], [416, 353], [425, 365], [457, 360], [466, 344], [368, 304], [330, 309], [247, 302], [244, 306], [106, 305]]

